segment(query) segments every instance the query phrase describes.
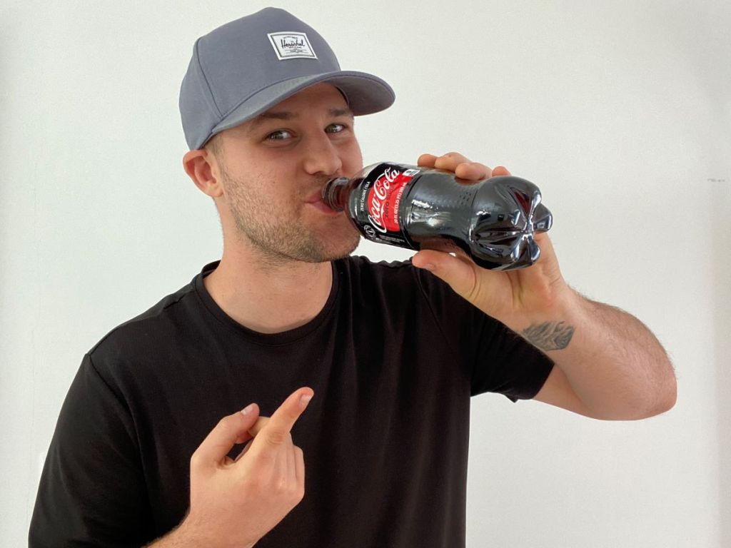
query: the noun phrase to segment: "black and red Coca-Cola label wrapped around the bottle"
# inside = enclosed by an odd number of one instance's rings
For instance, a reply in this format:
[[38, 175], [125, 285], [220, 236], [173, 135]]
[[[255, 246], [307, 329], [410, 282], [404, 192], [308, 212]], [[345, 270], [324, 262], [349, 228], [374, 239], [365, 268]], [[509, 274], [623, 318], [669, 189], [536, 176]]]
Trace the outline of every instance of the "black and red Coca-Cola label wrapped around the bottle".
[[420, 170], [379, 164], [366, 175], [357, 193], [357, 224], [369, 240], [409, 246], [398, 216], [401, 199]]

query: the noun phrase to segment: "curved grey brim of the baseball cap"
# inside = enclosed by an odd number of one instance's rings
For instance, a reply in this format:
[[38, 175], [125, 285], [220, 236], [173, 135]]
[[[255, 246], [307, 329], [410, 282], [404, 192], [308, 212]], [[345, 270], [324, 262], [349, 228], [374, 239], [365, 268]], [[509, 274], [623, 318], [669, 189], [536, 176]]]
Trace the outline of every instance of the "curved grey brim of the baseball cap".
[[390, 85], [379, 77], [369, 75], [366, 72], [337, 71], [292, 78], [270, 85], [268, 88], [257, 91], [256, 94], [244, 99], [238, 107], [231, 110], [230, 113], [224, 116], [223, 120], [211, 129], [211, 134], [197, 148], [202, 148], [205, 142], [208, 142], [216, 133], [251, 120], [251, 118], [264, 113], [298, 91], [322, 82], [333, 84], [339, 88], [346, 96], [350, 110], [356, 116], [385, 110], [395, 100], [395, 94]]

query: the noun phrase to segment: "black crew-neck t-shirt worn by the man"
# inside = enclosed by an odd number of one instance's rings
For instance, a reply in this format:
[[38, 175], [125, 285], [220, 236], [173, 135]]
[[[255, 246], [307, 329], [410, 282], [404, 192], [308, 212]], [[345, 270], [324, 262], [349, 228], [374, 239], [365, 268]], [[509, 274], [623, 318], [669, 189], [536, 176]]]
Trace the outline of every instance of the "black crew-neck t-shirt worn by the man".
[[216, 305], [202, 283], [216, 265], [83, 357], [30, 547], [163, 536], [186, 514], [190, 457], [219, 419], [251, 402], [270, 416], [303, 386], [315, 396], [292, 438], [305, 498], [257, 548], [463, 546], [469, 398], [531, 398], [550, 359], [410, 262], [333, 262], [322, 311], [273, 335]]

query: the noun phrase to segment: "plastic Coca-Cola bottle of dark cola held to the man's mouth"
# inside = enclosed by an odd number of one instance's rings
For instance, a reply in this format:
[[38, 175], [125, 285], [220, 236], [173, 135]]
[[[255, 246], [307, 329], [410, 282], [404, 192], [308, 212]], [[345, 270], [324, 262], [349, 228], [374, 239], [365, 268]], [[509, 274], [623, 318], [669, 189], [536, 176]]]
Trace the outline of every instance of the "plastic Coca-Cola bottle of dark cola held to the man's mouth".
[[368, 240], [417, 250], [460, 248], [491, 270], [534, 264], [540, 255], [534, 232], [547, 231], [552, 222], [528, 180], [504, 175], [474, 182], [393, 162], [329, 180], [322, 199], [344, 210]]

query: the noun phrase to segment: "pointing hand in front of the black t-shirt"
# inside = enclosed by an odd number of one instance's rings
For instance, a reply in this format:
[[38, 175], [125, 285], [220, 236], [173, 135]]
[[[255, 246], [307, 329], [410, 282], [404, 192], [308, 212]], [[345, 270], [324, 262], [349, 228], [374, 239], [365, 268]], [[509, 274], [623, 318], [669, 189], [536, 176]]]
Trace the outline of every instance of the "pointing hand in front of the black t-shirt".
[[[298, 389], [268, 420], [255, 403], [224, 416], [191, 457], [186, 519], [152, 547], [251, 547], [289, 514], [305, 494], [303, 453], [291, 431], [313, 395]], [[247, 441], [235, 460], [228, 457]]]

